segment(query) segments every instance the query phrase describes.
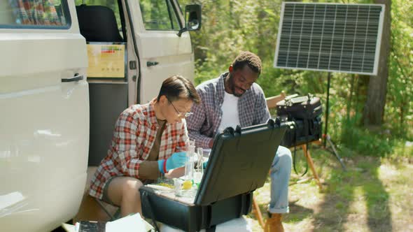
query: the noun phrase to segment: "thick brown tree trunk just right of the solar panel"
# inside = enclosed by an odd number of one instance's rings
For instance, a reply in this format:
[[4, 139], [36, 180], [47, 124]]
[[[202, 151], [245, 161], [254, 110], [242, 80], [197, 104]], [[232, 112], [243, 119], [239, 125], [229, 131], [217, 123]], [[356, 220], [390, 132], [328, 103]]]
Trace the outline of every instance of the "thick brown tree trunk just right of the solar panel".
[[365, 126], [381, 126], [383, 123], [387, 93], [388, 56], [390, 54], [391, 0], [374, 0], [374, 3], [385, 4], [386, 10], [384, 13], [383, 34], [381, 36], [379, 71], [377, 76], [370, 76], [367, 100], [365, 101], [363, 112]]

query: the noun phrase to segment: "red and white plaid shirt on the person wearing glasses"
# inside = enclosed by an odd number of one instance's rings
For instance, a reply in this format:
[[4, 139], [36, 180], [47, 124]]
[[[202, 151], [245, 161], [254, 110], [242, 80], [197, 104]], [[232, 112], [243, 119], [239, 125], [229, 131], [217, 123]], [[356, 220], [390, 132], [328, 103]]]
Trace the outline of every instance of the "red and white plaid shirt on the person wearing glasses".
[[[167, 123], [165, 126], [158, 159], [167, 159], [174, 152], [186, 150], [188, 131], [185, 119], [179, 123]], [[90, 196], [102, 199], [104, 185], [113, 176], [139, 178], [139, 164], [148, 158], [158, 128], [153, 101], [145, 105], [134, 105], [123, 111], [116, 121], [108, 154], [92, 177]]]

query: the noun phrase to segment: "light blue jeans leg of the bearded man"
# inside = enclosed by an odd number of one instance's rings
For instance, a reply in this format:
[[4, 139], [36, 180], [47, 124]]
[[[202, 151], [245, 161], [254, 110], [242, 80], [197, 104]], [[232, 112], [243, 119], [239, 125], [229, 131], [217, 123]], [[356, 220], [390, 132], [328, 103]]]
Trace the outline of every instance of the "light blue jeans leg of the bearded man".
[[278, 147], [270, 169], [271, 199], [268, 211], [288, 213], [288, 182], [291, 174], [291, 152], [286, 147]]

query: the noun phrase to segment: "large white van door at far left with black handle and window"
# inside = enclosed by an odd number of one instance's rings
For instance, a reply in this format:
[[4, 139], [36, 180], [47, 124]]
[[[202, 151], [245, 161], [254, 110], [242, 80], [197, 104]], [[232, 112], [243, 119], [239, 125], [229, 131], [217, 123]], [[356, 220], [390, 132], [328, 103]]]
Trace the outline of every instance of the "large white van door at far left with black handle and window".
[[85, 186], [85, 39], [73, 1], [0, 8], [1, 231], [51, 231], [76, 215]]

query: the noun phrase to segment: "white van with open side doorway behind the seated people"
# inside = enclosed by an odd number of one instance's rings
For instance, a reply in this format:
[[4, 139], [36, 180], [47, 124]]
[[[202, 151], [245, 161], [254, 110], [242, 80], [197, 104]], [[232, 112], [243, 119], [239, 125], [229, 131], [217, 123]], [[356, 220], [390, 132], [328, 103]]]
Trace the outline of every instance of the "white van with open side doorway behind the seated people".
[[177, 0], [0, 0], [0, 231], [76, 215], [119, 113], [193, 79], [200, 20]]

